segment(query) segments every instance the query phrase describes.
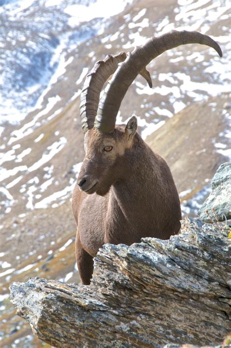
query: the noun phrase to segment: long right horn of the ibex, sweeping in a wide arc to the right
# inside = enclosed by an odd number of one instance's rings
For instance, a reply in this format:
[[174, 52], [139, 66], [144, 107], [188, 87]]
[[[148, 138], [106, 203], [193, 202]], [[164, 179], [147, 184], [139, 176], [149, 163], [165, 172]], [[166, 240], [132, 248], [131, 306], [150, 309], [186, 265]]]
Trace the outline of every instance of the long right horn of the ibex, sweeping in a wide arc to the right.
[[158, 38], [152, 37], [143, 46], [136, 47], [120, 65], [112, 80], [105, 88], [100, 99], [94, 127], [102, 132], [109, 133], [115, 129], [116, 116], [120, 104], [128, 90], [128, 87], [135, 80], [138, 74], [144, 76], [150, 87], [152, 82], [146, 65], [161, 53], [186, 43], [201, 43], [214, 48], [220, 57], [222, 51], [218, 43], [209, 36], [196, 31], [176, 31], [163, 34]]

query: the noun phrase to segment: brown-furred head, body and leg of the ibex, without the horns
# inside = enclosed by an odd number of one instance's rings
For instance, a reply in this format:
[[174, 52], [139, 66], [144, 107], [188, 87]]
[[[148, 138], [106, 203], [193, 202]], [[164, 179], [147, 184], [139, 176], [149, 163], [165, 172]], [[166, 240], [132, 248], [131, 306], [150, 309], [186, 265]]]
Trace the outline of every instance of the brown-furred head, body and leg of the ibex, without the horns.
[[[93, 257], [104, 243], [168, 239], [180, 229], [180, 203], [170, 169], [136, 133], [134, 119], [125, 129], [116, 126], [114, 132], [102, 134], [93, 128], [85, 135], [86, 157], [72, 199], [83, 284], [90, 284]], [[109, 145], [113, 150], [104, 151]]]

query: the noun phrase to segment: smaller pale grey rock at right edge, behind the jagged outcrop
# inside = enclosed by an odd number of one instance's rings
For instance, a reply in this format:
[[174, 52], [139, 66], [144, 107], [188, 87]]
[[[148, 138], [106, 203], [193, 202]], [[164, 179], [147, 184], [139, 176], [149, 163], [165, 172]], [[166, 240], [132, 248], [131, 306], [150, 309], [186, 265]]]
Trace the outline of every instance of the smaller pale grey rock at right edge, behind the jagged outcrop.
[[210, 196], [198, 211], [201, 220], [212, 223], [231, 219], [231, 162], [219, 166], [211, 187]]

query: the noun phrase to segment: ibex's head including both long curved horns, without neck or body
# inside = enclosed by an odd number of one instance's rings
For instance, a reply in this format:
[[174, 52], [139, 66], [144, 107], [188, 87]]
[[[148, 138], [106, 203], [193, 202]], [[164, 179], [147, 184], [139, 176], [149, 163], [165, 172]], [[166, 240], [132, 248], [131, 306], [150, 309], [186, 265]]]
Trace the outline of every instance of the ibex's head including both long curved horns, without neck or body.
[[[113, 183], [126, 176], [125, 162], [133, 148], [137, 121], [132, 117], [126, 127], [116, 126], [120, 104], [138, 74], [152, 87], [151, 76], [146, 70], [150, 61], [164, 51], [186, 43], [208, 45], [222, 57], [219, 45], [209, 36], [184, 30], [153, 37], [128, 56], [121, 52], [96, 62], [81, 93], [80, 117], [86, 151], [77, 179], [81, 191], [105, 195]], [[117, 69], [118, 63], [121, 65]], [[99, 101], [101, 89], [112, 74], [114, 76]]]

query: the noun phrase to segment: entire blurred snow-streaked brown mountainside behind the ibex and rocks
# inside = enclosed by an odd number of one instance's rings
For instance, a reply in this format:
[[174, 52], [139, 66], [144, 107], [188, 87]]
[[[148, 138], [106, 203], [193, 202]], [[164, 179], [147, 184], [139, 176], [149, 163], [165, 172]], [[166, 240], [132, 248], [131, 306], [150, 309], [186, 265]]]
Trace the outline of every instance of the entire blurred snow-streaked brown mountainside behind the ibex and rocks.
[[79, 282], [71, 195], [84, 158], [79, 96], [94, 63], [172, 29], [210, 35], [149, 64], [117, 123], [170, 165], [183, 215], [195, 216], [231, 158], [230, 0], [0, 0], [0, 347], [49, 347], [15, 314], [9, 285]]

